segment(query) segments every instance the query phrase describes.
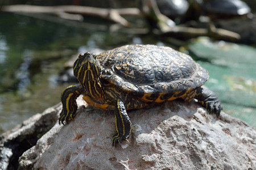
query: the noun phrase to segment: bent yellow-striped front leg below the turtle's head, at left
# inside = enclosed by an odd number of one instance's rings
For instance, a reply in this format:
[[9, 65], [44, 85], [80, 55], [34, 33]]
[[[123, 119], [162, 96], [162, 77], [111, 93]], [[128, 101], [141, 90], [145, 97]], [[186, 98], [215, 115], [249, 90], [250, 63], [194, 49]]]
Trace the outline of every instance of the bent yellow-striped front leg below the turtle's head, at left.
[[82, 94], [83, 88], [80, 84], [67, 87], [61, 94], [62, 111], [60, 112], [60, 122], [64, 125], [64, 121], [73, 120], [77, 111], [76, 99]]

